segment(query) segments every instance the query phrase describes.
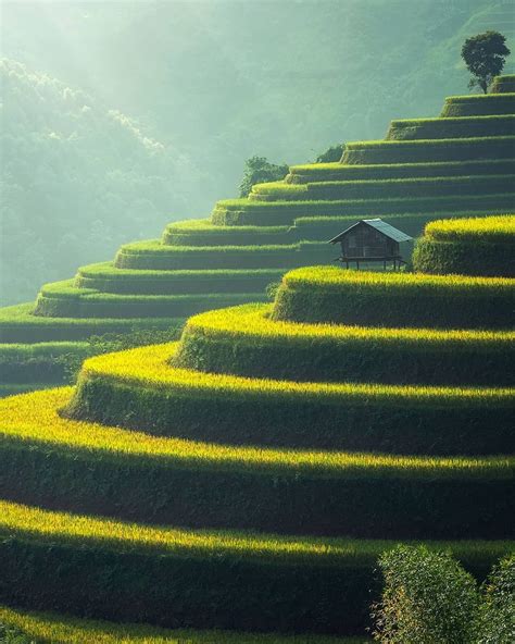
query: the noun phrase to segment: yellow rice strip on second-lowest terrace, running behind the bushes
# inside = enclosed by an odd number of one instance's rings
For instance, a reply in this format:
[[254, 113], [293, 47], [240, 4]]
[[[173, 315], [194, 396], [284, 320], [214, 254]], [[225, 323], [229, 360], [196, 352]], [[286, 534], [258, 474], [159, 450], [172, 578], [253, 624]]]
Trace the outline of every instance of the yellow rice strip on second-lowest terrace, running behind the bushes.
[[[38, 541], [59, 541], [127, 550], [151, 550], [177, 556], [238, 556], [280, 558], [286, 561], [309, 560], [318, 565], [346, 565], [355, 557], [370, 562], [378, 554], [394, 545], [388, 540], [355, 540], [349, 537], [288, 536], [221, 530], [187, 530], [129, 523], [114, 519], [43, 510], [12, 501], [0, 500], [0, 533], [20, 534]], [[425, 542], [429, 546], [431, 542]], [[508, 541], [463, 540], [432, 542], [439, 548], [460, 549], [467, 556], [481, 555], [485, 549], [510, 549]]]

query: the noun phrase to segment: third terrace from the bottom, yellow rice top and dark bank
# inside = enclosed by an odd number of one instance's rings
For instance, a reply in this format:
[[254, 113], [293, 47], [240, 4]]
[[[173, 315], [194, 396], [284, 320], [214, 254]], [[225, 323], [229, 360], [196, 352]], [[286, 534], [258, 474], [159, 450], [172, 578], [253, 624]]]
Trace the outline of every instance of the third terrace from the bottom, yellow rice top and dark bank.
[[[391, 538], [510, 534], [510, 457], [390, 456], [159, 437], [64, 419], [58, 410], [70, 395], [71, 389], [53, 389], [0, 401], [4, 496], [198, 528]], [[137, 398], [138, 392], [130, 395]], [[117, 423], [128, 424], [123, 414]], [[179, 424], [167, 429], [183, 431]]]

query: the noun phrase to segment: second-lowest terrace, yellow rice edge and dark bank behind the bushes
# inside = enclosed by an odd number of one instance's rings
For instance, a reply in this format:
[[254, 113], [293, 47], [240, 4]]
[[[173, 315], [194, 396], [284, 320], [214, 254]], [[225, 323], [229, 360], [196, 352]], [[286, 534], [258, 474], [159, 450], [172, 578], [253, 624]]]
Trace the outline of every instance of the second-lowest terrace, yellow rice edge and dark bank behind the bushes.
[[[194, 621], [200, 629], [363, 632], [369, 596], [377, 593], [376, 559], [394, 546], [145, 527], [7, 501], [0, 509], [2, 603], [60, 605], [79, 616], [169, 627]], [[492, 555], [511, 545], [429, 547], [449, 547], [482, 577]], [[105, 578], [110, 583], [99, 583]]]

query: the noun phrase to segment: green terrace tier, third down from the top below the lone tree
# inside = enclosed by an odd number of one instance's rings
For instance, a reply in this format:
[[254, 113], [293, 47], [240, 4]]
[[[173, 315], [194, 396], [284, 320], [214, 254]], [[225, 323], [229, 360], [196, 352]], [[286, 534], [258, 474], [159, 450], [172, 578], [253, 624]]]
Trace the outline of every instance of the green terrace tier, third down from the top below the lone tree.
[[392, 121], [387, 140], [478, 138], [515, 135], [515, 114]]

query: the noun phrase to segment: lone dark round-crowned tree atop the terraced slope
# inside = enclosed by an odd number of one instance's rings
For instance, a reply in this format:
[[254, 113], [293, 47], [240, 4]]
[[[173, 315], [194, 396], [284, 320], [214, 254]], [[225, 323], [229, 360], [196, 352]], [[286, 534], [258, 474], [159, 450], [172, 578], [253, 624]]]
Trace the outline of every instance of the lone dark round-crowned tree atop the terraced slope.
[[487, 94], [494, 76], [499, 76], [511, 51], [506, 38], [499, 32], [485, 32], [467, 38], [462, 47], [462, 58], [473, 77], [468, 87], [480, 87]]

